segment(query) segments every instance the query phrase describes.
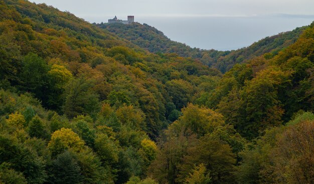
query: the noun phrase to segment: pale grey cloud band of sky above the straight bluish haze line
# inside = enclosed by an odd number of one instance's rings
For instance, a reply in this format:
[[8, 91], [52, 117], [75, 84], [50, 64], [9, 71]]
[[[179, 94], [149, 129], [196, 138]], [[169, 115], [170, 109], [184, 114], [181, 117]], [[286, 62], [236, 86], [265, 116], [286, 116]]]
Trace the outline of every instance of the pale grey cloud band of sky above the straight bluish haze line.
[[313, 0], [33, 0], [89, 22], [125, 17], [249, 17], [314, 15]]

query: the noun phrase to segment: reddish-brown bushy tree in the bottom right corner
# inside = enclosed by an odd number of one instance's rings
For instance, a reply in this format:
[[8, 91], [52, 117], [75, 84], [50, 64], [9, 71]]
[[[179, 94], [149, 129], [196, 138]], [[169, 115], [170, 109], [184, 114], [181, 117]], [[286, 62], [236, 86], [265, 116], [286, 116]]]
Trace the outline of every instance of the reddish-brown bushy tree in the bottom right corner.
[[281, 183], [314, 182], [314, 121], [290, 125], [279, 135], [270, 158]]

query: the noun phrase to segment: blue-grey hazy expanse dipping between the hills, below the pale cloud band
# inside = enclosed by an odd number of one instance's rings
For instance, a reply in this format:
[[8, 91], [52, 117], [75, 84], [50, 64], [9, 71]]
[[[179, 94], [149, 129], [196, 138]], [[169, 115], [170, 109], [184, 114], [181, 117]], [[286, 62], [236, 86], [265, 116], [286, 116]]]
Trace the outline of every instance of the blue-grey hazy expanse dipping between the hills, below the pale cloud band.
[[136, 17], [164, 32], [171, 40], [201, 49], [234, 50], [267, 36], [311, 24], [314, 16], [274, 15], [256, 17]]

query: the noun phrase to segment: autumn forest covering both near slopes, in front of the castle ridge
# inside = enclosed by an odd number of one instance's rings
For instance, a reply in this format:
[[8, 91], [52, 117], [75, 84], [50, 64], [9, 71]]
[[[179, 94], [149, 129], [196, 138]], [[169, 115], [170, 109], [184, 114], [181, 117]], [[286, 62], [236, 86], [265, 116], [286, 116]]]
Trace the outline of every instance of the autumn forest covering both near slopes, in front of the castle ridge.
[[313, 183], [313, 26], [223, 75], [1, 1], [0, 183]]

